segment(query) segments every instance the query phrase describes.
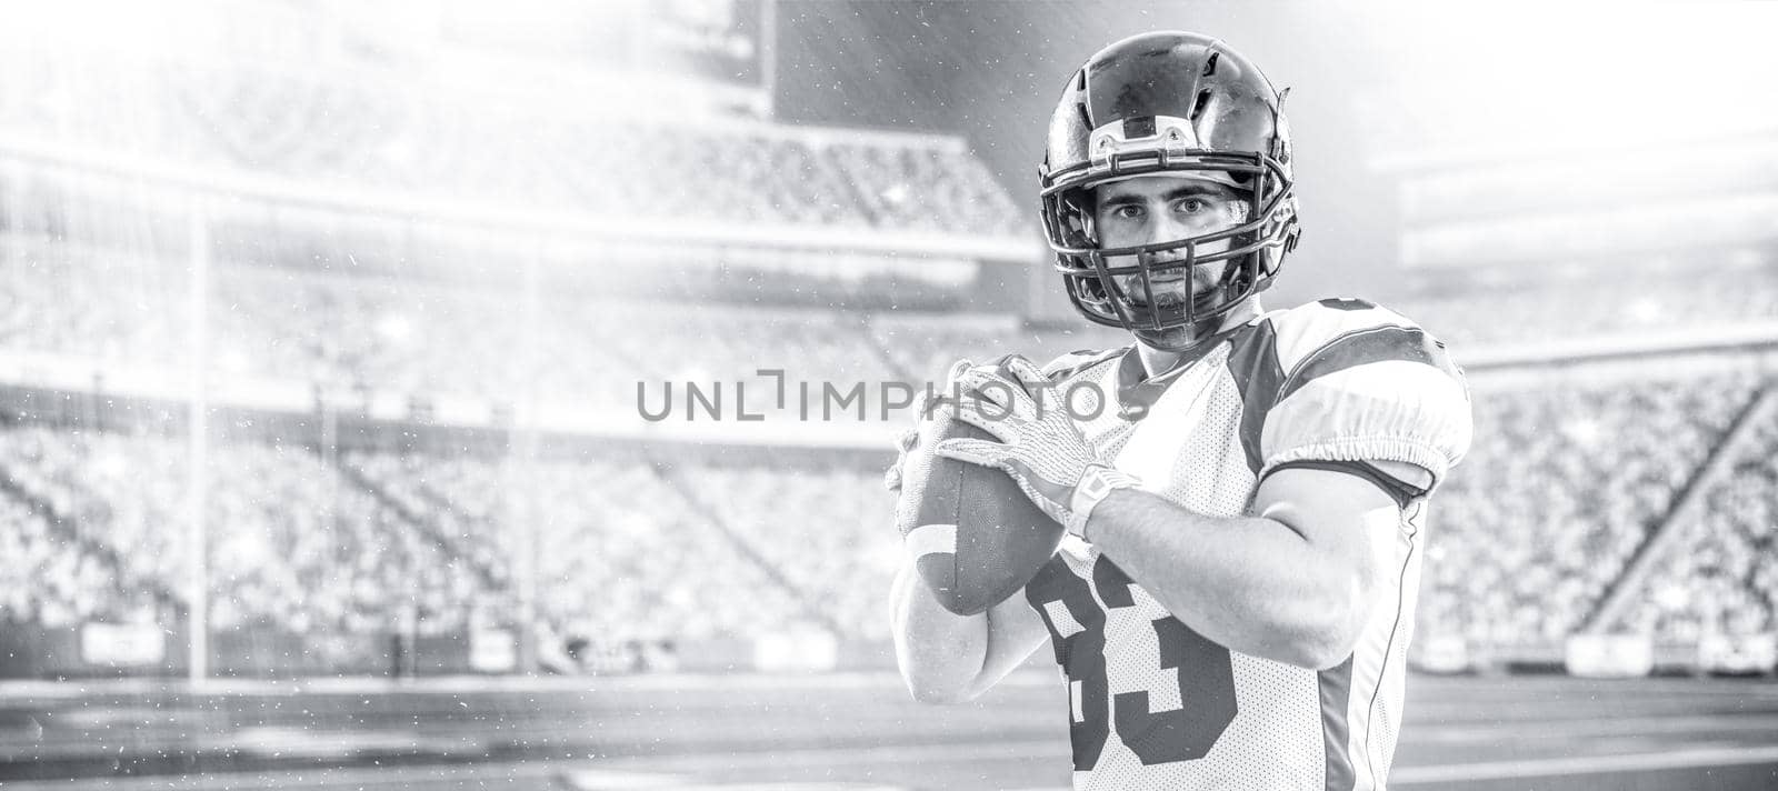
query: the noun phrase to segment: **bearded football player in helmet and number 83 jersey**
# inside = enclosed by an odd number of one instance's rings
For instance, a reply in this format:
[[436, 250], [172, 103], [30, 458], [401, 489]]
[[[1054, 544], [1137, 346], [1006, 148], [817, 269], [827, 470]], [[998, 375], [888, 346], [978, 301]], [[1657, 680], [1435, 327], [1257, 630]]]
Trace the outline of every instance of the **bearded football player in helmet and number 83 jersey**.
[[[973, 617], [910, 558], [891, 594], [901, 674], [919, 700], [969, 700], [1047, 640], [1079, 789], [1389, 775], [1428, 496], [1469, 448], [1469, 391], [1398, 313], [1261, 306], [1298, 240], [1280, 103], [1197, 34], [1088, 59], [1051, 119], [1042, 222], [1069, 299], [1133, 343], [951, 368], [983, 400], [942, 409], [996, 441], [937, 453], [1003, 469], [1067, 535]], [[1054, 409], [1079, 382], [1102, 393], [1097, 418]]]

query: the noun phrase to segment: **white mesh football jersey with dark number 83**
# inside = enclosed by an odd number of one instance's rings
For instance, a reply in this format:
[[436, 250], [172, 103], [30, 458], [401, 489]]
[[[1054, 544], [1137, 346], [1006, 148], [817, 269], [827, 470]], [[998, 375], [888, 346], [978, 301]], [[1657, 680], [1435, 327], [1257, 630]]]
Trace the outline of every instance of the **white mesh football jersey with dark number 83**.
[[[1133, 348], [1045, 368], [1088, 441], [1141, 489], [1241, 515], [1271, 471], [1408, 462], [1433, 485], [1470, 441], [1463, 373], [1414, 322], [1360, 300], [1259, 316], [1154, 380]], [[1026, 585], [1069, 683], [1077, 789], [1382, 789], [1401, 723], [1426, 551], [1424, 492], [1401, 503], [1374, 617], [1314, 672], [1229, 651], [1173, 619], [1099, 549], [1069, 537]]]

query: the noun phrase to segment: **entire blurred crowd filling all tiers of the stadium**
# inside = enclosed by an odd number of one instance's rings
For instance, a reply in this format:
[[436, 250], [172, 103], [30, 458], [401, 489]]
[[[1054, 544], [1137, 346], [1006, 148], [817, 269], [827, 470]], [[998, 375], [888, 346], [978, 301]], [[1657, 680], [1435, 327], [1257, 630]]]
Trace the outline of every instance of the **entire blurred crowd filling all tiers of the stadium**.
[[[521, 94], [405, 85], [364, 66], [292, 73], [117, 57], [133, 68], [89, 80], [78, 68], [27, 68], [27, 55], [0, 53], [0, 123], [76, 160], [103, 153], [199, 181], [252, 180], [274, 194], [896, 242], [1029, 236], [1026, 212], [955, 137], [612, 121]], [[103, 372], [188, 372], [197, 348], [188, 256], [153, 252], [169, 231], [112, 224], [91, 196], [116, 185], [14, 171], [0, 172], [0, 352]], [[325, 254], [288, 256], [251, 236], [215, 240], [199, 363], [212, 377], [329, 393], [629, 412], [638, 382], [745, 382], [768, 393], [777, 382], [757, 368], [782, 368], [791, 388], [864, 384], [875, 419], [875, 384], [937, 382], [957, 357], [1042, 361], [1127, 341], [1012, 313], [896, 311], [889, 292], [862, 309], [800, 284], [789, 286], [795, 308], [741, 297], [658, 304], [613, 299], [603, 270], [521, 290], [523, 277], [498, 263], [461, 281], [405, 252], [395, 265], [352, 268], [334, 265], [354, 249], [340, 240], [311, 240], [332, 244]], [[1771, 322], [1778, 268], [1755, 252], [1742, 258], [1728, 261], [1735, 277], [1540, 281], [1533, 292], [1485, 288], [1394, 308], [1456, 348]], [[896, 281], [921, 267], [889, 252], [871, 267], [827, 263], [827, 286], [848, 297], [868, 292], [859, 270]], [[752, 281], [770, 268], [722, 261], [672, 277]], [[978, 274], [964, 261], [932, 270], [953, 286]], [[1646, 594], [1614, 626], [1677, 642], [1778, 629], [1778, 416], [1758, 416], [1726, 473], [1693, 491], [1705, 459], [1769, 386], [1718, 372], [1476, 389], [1474, 450], [1435, 499], [1421, 631], [1472, 645], [1559, 642], [1686, 496], [1702, 498], [1698, 519], [1675, 524], [1678, 549], [1639, 581]], [[786, 627], [887, 636], [884, 594], [900, 549], [880, 485], [887, 450], [843, 462], [795, 450], [750, 462], [720, 450], [334, 457], [267, 437], [276, 434], [215, 443], [199, 464], [176, 430], [0, 425], [0, 619], [174, 622], [199, 588], [188, 569], [192, 526], [204, 524], [201, 590], [213, 629], [455, 635], [512, 626], [517, 603], [530, 601], [544, 631], [587, 656]]]

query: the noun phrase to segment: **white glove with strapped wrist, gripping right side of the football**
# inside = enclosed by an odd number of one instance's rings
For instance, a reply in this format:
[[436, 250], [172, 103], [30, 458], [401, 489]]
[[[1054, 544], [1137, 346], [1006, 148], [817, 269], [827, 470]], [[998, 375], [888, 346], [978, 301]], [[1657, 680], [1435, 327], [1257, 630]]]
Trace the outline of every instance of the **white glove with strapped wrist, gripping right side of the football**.
[[933, 451], [1006, 473], [1070, 533], [1086, 539], [1093, 507], [1138, 483], [1099, 457], [1049, 377], [1029, 359], [1008, 356], [996, 364], [953, 368], [951, 379], [957, 398], [941, 409], [997, 441], [946, 439]]

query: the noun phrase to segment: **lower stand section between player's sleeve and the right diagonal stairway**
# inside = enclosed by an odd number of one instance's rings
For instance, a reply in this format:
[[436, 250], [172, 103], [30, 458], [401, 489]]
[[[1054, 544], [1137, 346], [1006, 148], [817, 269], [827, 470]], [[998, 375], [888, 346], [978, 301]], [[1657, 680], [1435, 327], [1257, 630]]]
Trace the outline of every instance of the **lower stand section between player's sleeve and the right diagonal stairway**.
[[1723, 373], [1478, 391], [1474, 446], [1435, 501], [1422, 633], [1510, 649], [1579, 629], [1753, 389]]

